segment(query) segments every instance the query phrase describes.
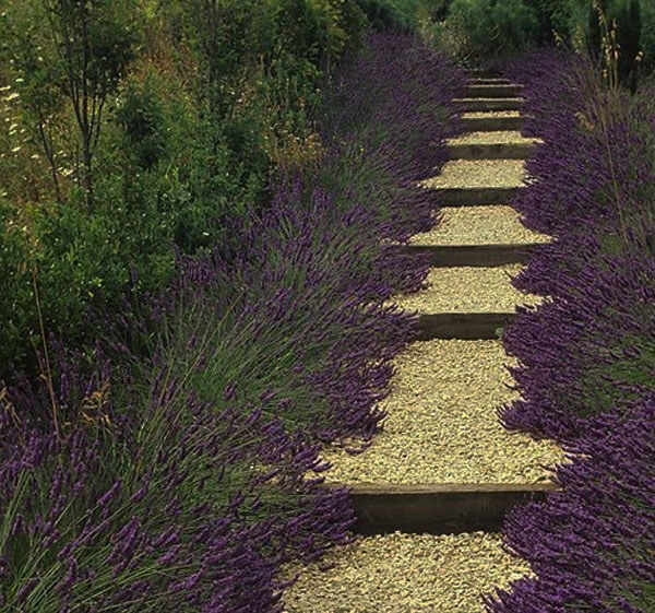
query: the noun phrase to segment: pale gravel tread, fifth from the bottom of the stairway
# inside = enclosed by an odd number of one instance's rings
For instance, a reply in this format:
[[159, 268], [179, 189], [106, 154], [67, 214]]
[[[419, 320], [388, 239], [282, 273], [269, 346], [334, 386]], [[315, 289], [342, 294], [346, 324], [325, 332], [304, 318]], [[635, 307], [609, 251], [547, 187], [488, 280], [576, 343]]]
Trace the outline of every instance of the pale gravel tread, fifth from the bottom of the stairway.
[[443, 165], [440, 175], [420, 185], [430, 188], [520, 187], [525, 176], [523, 160], [453, 160]]

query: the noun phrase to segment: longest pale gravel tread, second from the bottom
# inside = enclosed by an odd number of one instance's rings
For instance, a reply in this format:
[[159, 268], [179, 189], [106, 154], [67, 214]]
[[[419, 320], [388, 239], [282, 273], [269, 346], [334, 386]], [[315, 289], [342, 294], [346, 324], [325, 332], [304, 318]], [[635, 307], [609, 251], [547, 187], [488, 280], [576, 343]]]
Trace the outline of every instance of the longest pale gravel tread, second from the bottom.
[[[517, 398], [501, 341], [432, 340], [412, 343], [394, 361], [383, 431], [350, 456], [327, 446], [326, 481], [343, 483], [538, 483], [540, 464], [563, 461], [551, 440], [508, 432], [496, 409]], [[358, 441], [352, 440], [352, 444]]]

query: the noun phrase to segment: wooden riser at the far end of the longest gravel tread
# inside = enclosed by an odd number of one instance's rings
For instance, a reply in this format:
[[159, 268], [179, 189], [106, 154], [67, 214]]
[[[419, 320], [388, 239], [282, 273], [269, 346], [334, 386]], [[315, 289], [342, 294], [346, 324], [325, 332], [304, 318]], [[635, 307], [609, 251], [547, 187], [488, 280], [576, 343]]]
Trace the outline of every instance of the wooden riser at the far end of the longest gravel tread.
[[499, 339], [516, 317], [515, 313], [434, 313], [418, 317], [417, 341], [460, 339], [481, 341]]

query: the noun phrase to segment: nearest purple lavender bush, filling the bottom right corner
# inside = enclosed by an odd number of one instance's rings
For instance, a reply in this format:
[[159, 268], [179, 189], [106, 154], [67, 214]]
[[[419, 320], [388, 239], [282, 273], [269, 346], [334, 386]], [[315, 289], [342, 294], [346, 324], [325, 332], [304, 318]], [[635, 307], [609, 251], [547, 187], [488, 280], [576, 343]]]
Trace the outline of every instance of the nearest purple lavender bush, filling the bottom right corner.
[[493, 613], [647, 613], [655, 586], [655, 396], [592, 420], [555, 471], [562, 492], [513, 510], [508, 551], [536, 576], [486, 597]]

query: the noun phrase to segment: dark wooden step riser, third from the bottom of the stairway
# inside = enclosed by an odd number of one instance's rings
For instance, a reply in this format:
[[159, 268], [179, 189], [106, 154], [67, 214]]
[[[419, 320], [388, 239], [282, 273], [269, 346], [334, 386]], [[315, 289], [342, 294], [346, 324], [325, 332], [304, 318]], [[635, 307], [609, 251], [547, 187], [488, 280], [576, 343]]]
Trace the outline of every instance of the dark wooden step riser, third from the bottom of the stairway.
[[497, 267], [526, 263], [541, 247], [529, 245], [407, 245], [398, 251], [409, 256], [428, 255], [432, 268]]

